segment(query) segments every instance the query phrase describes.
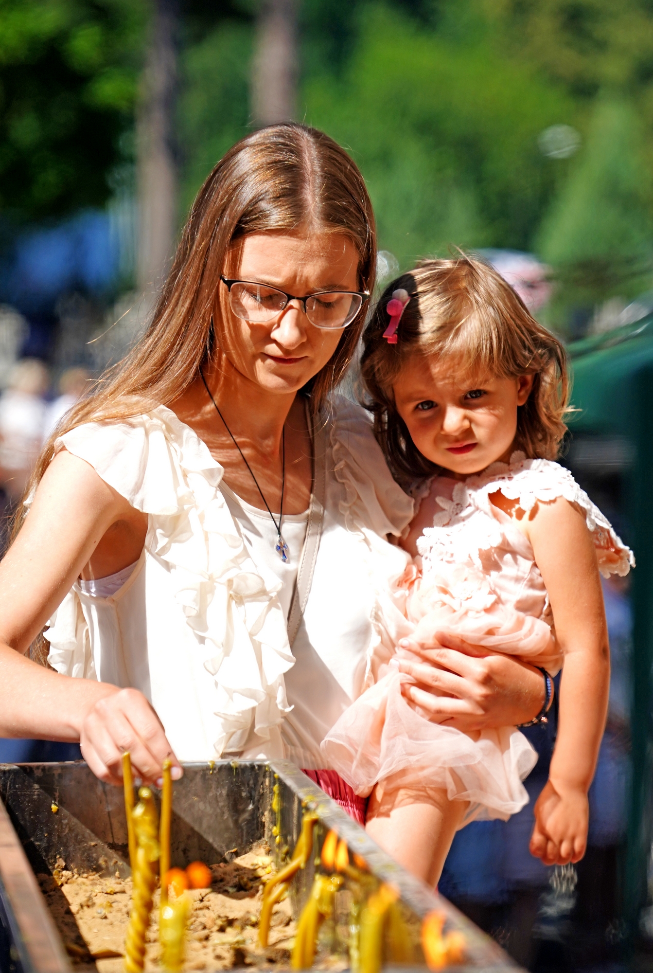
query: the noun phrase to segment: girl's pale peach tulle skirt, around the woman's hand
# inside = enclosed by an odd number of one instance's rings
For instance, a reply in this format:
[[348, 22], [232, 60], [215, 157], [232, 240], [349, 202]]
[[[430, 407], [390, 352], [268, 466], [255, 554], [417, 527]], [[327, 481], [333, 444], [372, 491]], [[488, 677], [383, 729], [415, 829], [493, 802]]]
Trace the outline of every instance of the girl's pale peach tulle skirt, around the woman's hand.
[[[418, 633], [452, 631], [472, 644], [494, 651], [501, 647], [538, 665], [559, 651], [546, 623], [496, 603], [487, 611], [469, 612], [446, 604], [433, 610], [431, 602], [431, 610], [421, 614]], [[375, 784], [382, 799], [400, 788], [446, 790], [449, 800], [469, 803], [464, 824], [474, 818], [507, 820], [520, 811], [529, 801], [522, 780], [537, 762], [528, 739], [515, 727], [464, 733], [431, 722], [401, 693], [403, 683], [414, 681], [392, 663], [381, 667], [379, 681], [342, 714], [323, 741], [327, 766], [362, 797]]]

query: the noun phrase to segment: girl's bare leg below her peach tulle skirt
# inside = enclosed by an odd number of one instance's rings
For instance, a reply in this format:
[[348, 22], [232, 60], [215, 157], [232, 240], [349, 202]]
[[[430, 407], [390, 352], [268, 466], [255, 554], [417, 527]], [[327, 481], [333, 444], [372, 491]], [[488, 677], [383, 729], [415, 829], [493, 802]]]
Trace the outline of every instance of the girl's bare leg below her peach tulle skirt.
[[467, 802], [450, 801], [446, 790], [402, 788], [379, 798], [374, 788], [365, 830], [399, 865], [434, 887], [466, 810]]

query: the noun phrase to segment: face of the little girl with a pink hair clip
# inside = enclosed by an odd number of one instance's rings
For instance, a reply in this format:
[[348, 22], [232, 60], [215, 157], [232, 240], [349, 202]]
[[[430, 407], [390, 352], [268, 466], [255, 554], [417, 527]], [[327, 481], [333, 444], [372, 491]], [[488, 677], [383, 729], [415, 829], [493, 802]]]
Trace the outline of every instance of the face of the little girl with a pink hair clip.
[[417, 449], [464, 480], [510, 458], [517, 409], [531, 393], [533, 376], [477, 376], [462, 383], [456, 373], [456, 362], [414, 355], [394, 391], [397, 412]]

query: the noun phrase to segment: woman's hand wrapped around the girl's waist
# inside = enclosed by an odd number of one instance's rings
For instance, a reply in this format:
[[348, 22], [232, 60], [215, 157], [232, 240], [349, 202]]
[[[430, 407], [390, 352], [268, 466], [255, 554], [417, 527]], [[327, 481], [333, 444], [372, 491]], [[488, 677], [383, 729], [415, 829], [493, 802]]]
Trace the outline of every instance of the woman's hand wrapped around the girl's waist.
[[435, 632], [421, 640], [404, 638], [399, 646], [424, 662], [395, 657], [408, 703], [420, 706], [434, 723], [457, 730], [495, 729], [528, 723], [545, 699], [542, 674], [511, 656], [491, 655], [456, 635]]

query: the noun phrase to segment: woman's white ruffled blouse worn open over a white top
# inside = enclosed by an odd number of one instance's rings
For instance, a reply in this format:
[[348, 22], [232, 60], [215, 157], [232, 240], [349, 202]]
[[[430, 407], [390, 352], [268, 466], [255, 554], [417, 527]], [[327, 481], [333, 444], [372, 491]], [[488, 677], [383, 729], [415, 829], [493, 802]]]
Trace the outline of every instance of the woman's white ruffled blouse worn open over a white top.
[[77, 583], [63, 599], [45, 632], [51, 666], [141, 690], [181, 760], [324, 767], [327, 730], [409, 631], [392, 584], [408, 558], [385, 538], [413, 513], [367, 414], [338, 397], [327, 425], [323, 533], [292, 650], [281, 582], [252, 560], [219, 488], [223, 468], [188, 425], [159, 406], [61, 436], [56, 449], [86, 460], [149, 527], [116, 595]]

